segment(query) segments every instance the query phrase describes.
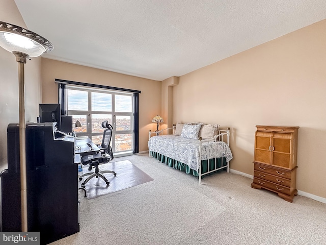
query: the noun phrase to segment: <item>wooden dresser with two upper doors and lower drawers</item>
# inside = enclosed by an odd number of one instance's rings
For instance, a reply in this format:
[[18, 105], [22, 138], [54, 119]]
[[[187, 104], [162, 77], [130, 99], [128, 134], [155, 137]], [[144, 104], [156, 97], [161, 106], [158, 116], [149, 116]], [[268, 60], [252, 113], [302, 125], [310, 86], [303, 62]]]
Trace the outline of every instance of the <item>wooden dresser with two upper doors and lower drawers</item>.
[[292, 202], [296, 182], [297, 131], [299, 127], [256, 126], [253, 188], [278, 193]]

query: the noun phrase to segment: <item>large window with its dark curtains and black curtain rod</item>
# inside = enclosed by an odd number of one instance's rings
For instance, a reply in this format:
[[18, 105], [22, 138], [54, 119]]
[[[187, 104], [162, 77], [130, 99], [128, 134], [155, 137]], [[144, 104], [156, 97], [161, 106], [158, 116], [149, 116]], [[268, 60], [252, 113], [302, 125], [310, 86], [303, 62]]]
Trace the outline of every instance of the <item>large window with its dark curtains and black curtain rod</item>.
[[82, 127], [75, 129], [78, 134], [87, 135], [94, 141], [100, 142], [102, 135], [100, 131], [103, 129], [96, 125], [96, 121], [105, 119], [114, 127], [112, 148], [115, 152], [129, 151], [126, 149], [131, 149], [132, 153], [139, 152], [141, 91], [62, 79], [55, 79], [55, 82], [58, 83], [61, 114], [67, 115], [69, 110], [74, 122], [76, 120], [82, 122]]

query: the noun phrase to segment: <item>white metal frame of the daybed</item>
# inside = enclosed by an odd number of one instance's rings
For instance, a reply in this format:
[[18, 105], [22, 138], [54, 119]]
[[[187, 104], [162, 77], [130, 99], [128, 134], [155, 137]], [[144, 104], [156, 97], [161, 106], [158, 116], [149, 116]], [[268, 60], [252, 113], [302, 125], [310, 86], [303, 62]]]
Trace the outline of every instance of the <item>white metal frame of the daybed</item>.
[[[153, 136], [153, 135], [164, 135], [164, 134], [169, 134], [169, 132], [172, 131], [172, 133], [174, 134], [174, 131], [176, 129], [176, 126], [173, 125], [172, 128], [166, 128], [166, 129], [162, 129], [162, 130], [159, 130], [159, 131], [155, 131], [155, 132], [151, 132], [151, 130], [149, 130], [148, 132], [148, 140]], [[223, 139], [225, 139], [225, 137], [223, 138], [223, 136], [226, 136], [226, 143], [228, 144], [228, 146], [230, 146], [230, 128], [227, 128], [227, 130], [221, 130], [219, 129], [219, 134], [218, 135], [215, 135], [212, 139], [209, 139], [209, 140], [203, 140], [202, 137], [199, 137], [198, 138], [198, 144], [199, 144], [199, 162], [200, 162], [200, 167], [199, 167], [199, 171], [198, 171], [198, 174], [199, 174], [199, 184], [201, 184], [201, 180], [202, 180], [202, 176], [204, 175], [207, 175], [209, 173], [212, 173], [216, 170], [220, 170], [220, 169], [223, 169], [223, 168], [227, 168], [227, 173], [229, 173], [229, 162], [227, 162], [227, 165], [226, 166], [223, 166], [223, 156], [222, 156], [222, 167], [217, 167], [217, 161], [216, 161], [216, 158], [215, 158], [215, 168], [213, 170], [210, 170], [208, 171], [209, 169], [209, 161], [207, 161], [207, 172], [202, 174], [202, 143], [203, 142], [209, 142], [209, 141], [216, 141], [216, 140], [219, 140], [219, 141], [224, 141]], [[148, 156], [151, 157], [151, 154], [150, 152], [148, 152]]]

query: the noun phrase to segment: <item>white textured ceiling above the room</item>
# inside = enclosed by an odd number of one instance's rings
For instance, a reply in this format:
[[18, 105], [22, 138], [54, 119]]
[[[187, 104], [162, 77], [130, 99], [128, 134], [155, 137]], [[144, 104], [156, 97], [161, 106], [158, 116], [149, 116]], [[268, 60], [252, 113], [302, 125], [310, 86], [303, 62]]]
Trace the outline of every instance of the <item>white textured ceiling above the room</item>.
[[325, 0], [15, 3], [28, 29], [55, 46], [42, 57], [159, 81], [326, 18]]

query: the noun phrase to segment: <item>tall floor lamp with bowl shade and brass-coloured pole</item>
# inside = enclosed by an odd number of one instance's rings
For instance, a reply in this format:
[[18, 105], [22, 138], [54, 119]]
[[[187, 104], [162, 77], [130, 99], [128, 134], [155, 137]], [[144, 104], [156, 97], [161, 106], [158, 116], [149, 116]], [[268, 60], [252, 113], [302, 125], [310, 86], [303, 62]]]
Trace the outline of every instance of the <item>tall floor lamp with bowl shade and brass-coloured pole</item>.
[[38, 57], [53, 50], [53, 45], [34, 32], [0, 21], [0, 46], [13, 53], [18, 62], [21, 231], [27, 232], [24, 64], [30, 57]]

